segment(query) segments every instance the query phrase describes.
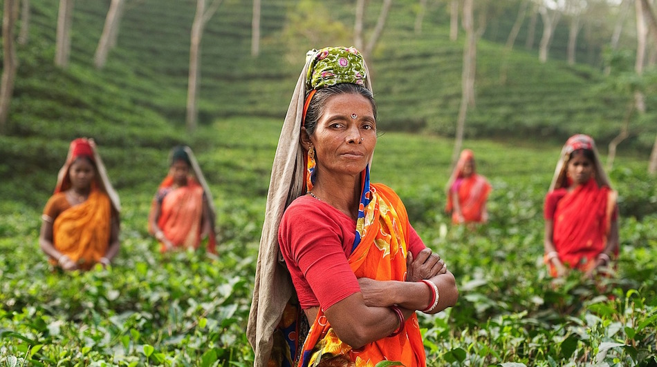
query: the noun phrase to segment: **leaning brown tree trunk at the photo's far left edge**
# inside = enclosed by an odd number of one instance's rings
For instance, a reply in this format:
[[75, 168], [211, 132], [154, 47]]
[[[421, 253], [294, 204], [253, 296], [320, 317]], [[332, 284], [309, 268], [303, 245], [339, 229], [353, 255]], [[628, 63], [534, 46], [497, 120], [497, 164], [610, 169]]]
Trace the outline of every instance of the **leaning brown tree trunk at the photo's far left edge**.
[[11, 97], [14, 93], [14, 79], [18, 68], [14, 47], [14, 28], [18, 17], [18, 0], [5, 0], [2, 12], [2, 77], [0, 81], [0, 134], [5, 132]]

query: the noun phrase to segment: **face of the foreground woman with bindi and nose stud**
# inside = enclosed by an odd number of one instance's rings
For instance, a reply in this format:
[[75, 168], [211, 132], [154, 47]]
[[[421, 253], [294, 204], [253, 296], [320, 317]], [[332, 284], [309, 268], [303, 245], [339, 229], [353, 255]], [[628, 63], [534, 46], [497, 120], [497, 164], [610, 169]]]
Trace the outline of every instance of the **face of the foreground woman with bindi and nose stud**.
[[376, 121], [369, 99], [356, 94], [327, 99], [310, 139], [315, 147], [317, 175], [360, 174], [376, 146]]

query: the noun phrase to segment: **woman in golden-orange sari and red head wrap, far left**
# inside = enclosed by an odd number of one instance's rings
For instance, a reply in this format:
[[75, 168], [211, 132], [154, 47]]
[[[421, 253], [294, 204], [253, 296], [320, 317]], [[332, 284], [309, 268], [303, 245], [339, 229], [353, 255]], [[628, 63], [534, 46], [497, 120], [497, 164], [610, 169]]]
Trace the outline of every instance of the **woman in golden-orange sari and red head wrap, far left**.
[[95, 143], [75, 139], [41, 216], [39, 246], [50, 264], [62, 270], [109, 266], [120, 246], [119, 211]]

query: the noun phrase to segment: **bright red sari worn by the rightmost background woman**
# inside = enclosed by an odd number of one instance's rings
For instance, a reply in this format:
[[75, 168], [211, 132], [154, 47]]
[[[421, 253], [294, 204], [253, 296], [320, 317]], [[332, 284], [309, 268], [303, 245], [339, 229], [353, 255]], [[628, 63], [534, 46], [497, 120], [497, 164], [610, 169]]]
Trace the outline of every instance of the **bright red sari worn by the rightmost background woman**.
[[607, 246], [615, 209], [615, 192], [607, 186], [599, 188], [595, 179], [559, 200], [553, 219], [553, 243], [559, 259], [582, 271], [595, 266], [595, 258]]

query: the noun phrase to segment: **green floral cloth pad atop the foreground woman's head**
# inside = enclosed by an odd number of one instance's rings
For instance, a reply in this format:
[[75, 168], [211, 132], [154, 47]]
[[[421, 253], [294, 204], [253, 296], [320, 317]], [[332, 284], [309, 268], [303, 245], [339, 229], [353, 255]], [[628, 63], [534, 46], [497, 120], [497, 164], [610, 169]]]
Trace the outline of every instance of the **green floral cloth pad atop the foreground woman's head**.
[[327, 47], [308, 51], [315, 57], [308, 65], [306, 90], [335, 86], [340, 83], [365, 85], [365, 63], [362, 55], [353, 47]]

